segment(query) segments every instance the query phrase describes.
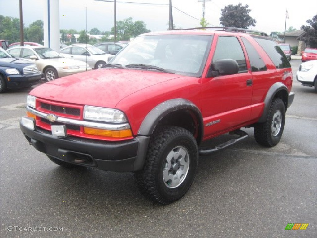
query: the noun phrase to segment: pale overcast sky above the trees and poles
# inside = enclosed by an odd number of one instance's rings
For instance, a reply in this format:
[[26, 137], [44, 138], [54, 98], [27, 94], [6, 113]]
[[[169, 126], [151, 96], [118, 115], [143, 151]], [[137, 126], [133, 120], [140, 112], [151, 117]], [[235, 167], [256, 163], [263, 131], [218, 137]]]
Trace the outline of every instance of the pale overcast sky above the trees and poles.
[[[25, 26], [36, 20], [43, 20], [44, 4], [46, 0], [23, 0], [23, 20]], [[57, 1], [57, 0], [50, 0]], [[111, 30], [113, 27], [113, 2], [96, 0], [59, 0], [60, 2], [60, 28], [61, 29], [86, 29], [97, 27], [99, 30]], [[121, 3], [120, 3], [121, 2]], [[131, 4], [133, 3], [156, 3]], [[221, 9], [233, 4], [249, 5], [249, 15], [256, 20], [253, 30], [284, 31], [285, 13], [288, 10], [286, 29], [292, 26], [297, 30], [306, 21], [317, 14], [315, 0], [305, 0], [305, 9], [299, 8], [298, 1], [288, 0], [206, 0], [205, 19], [210, 26], [220, 26], [219, 18]], [[159, 5], [162, 4], [162, 5]], [[166, 30], [169, 19], [169, 0], [117, 0], [117, 21], [132, 17], [133, 21], [143, 21], [151, 31]], [[202, 0], [172, 0], [173, 20], [177, 27], [191, 28], [199, 26], [199, 19], [203, 13]], [[18, 0], [0, 0], [0, 15], [19, 17]]]

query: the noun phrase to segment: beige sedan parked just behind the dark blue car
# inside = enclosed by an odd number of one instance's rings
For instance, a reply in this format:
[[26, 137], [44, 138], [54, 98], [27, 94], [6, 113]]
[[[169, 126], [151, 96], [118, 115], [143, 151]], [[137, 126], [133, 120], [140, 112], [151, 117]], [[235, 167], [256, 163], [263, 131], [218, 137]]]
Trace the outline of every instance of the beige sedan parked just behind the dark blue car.
[[10, 55], [36, 64], [44, 78], [51, 81], [67, 75], [91, 70], [85, 62], [67, 59], [55, 50], [41, 46], [19, 46], [7, 50]]

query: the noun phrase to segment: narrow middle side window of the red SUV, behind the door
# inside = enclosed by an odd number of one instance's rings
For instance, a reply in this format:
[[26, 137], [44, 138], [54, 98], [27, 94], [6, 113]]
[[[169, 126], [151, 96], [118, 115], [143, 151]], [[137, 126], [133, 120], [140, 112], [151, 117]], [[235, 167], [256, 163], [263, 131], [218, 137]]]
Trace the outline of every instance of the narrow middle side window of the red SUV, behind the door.
[[267, 70], [264, 61], [262, 60], [260, 54], [254, 48], [254, 46], [246, 38], [241, 37], [241, 39], [249, 56], [251, 71], [256, 72]]

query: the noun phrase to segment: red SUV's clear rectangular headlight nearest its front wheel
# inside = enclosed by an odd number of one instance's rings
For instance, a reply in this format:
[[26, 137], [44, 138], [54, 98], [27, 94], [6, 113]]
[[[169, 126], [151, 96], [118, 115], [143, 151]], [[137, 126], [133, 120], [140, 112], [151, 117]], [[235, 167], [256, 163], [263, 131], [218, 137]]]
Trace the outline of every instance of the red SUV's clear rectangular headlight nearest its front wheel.
[[84, 107], [84, 119], [114, 123], [127, 122], [126, 116], [119, 110], [93, 106]]

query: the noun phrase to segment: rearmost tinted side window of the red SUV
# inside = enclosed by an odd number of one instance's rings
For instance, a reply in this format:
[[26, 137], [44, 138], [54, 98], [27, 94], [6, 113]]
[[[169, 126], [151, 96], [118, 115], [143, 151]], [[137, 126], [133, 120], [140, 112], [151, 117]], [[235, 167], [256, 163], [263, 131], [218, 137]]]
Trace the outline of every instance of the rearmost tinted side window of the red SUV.
[[258, 36], [254, 36], [254, 39], [257, 43], [259, 43], [259, 45], [261, 45], [263, 50], [265, 50], [265, 52], [271, 58], [276, 69], [291, 67], [291, 64], [283, 53], [283, 50], [278, 46], [277, 43], [275, 43], [274, 40], [268, 38], [260, 38]]

